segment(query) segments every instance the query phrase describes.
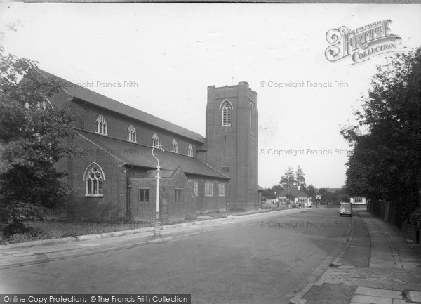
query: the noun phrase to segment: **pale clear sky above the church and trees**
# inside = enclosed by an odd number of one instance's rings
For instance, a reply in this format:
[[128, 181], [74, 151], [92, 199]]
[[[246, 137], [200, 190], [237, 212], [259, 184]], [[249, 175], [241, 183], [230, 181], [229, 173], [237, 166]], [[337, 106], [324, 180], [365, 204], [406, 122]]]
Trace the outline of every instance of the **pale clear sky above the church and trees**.
[[326, 33], [383, 20], [392, 51], [421, 46], [420, 4], [0, 4], [6, 53], [203, 136], [207, 87], [247, 81], [261, 187], [288, 166], [307, 185], [345, 184], [340, 128], [392, 53], [332, 62]]

